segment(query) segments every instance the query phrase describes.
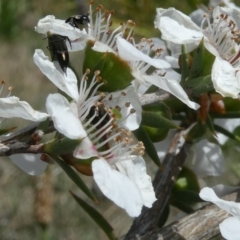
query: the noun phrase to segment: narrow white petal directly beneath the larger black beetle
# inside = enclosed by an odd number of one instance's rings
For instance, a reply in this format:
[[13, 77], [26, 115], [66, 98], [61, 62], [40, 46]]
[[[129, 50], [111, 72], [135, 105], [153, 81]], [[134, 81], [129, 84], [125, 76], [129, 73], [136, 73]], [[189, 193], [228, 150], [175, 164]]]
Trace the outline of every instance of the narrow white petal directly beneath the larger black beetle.
[[[67, 93], [75, 101], [78, 99], [77, 78], [74, 72], [67, 68], [66, 74], [60, 68], [58, 62], [50, 62], [48, 57], [41, 49], [36, 49], [33, 60], [39, 69], [48, 79], [55, 84], [60, 90]], [[58, 68], [57, 68], [58, 67]]]

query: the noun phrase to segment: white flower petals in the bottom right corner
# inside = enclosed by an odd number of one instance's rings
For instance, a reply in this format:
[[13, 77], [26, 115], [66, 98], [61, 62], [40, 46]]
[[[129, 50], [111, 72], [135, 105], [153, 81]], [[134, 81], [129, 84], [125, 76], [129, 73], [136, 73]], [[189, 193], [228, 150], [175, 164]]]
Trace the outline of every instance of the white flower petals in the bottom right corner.
[[215, 192], [208, 187], [201, 190], [199, 196], [205, 200], [216, 204], [221, 209], [227, 211], [233, 217], [225, 219], [220, 225], [220, 232], [227, 240], [237, 240], [240, 236], [240, 203], [225, 201], [217, 197]]

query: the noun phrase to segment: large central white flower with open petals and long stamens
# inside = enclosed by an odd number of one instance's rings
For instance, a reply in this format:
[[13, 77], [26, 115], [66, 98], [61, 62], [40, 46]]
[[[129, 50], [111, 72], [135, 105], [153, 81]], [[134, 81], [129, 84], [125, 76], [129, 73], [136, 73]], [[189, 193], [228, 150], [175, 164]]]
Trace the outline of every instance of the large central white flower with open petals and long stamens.
[[60, 133], [71, 139], [82, 139], [73, 155], [79, 159], [96, 159], [92, 170], [102, 192], [133, 217], [141, 213], [143, 205], [151, 207], [156, 198], [141, 157], [144, 147], [142, 143], [135, 144], [128, 131], [137, 129], [141, 122], [141, 104], [133, 87], [99, 94], [102, 83], [98, 82], [99, 73], [95, 73], [89, 85], [85, 74], [76, 92], [77, 79], [71, 69], [59, 79], [55, 74], [59, 68], [41, 50], [35, 51], [34, 61], [73, 99], [69, 102], [59, 93], [50, 94], [46, 108]]

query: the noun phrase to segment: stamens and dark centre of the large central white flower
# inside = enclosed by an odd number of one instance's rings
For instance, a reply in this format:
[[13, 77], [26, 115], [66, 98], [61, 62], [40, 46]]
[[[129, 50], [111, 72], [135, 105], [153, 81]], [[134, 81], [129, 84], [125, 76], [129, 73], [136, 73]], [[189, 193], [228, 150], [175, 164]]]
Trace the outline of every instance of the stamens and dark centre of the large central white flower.
[[[95, 77], [87, 87], [86, 74], [80, 84], [80, 101], [78, 101], [79, 119], [91, 140], [98, 155], [107, 161], [114, 163], [131, 158], [136, 155], [144, 154], [144, 145], [142, 142], [135, 143], [130, 131], [119, 126], [119, 124], [135, 113], [130, 108], [130, 102], [126, 101], [123, 106], [115, 105], [115, 102], [122, 102], [126, 96], [121, 92], [119, 96], [108, 98], [104, 93], [97, 93], [102, 83], [97, 84], [100, 72], [95, 73]], [[113, 103], [111, 103], [113, 101]], [[108, 105], [108, 106], [107, 106]], [[123, 112], [128, 109], [128, 114]], [[133, 155], [134, 154], [134, 155]]]

